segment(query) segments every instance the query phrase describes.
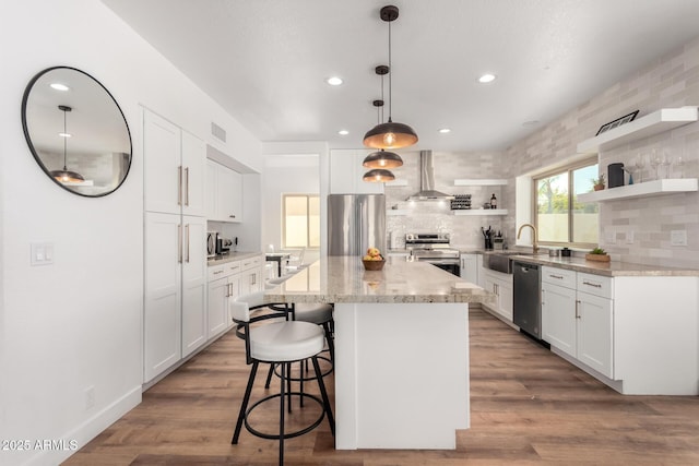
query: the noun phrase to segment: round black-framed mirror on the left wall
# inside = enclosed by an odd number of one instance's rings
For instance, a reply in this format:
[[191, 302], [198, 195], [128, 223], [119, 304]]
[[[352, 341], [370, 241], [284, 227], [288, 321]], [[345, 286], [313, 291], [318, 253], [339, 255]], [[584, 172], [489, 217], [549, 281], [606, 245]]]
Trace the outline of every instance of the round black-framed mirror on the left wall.
[[29, 81], [22, 127], [34, 158], [61, 188], [107, 195], [131, 167], [131, 133], [109, 91], [84, 71], [49, 68]]

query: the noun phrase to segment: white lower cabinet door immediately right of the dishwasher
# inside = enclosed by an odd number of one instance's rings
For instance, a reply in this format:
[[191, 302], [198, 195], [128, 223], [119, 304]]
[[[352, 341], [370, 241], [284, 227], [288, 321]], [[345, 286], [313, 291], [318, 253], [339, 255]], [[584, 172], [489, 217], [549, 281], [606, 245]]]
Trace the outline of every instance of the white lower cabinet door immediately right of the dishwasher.
[[576, 290], [542, 284], [542, 339], [576, 357]]

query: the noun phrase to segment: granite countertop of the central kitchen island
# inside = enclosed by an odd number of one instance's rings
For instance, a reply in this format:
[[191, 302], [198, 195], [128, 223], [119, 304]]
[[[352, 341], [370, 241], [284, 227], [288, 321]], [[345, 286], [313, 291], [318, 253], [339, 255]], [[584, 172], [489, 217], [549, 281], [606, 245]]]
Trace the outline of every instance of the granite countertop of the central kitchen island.
[[266, 290], [288, 302], [491, 302], [495, 295], [425, 262], [387, 258], [382, 271], [364, 270], [360, 258], [321, 258]]

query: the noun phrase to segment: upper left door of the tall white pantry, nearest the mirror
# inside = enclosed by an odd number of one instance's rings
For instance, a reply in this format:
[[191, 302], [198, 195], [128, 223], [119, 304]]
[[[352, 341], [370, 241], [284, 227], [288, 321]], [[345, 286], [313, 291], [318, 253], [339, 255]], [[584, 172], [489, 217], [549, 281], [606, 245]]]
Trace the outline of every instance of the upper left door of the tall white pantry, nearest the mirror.
[[181, 131], [152, 113], [143, 112], [143, 158], [145, 170], [145, 210], [181, 213]]

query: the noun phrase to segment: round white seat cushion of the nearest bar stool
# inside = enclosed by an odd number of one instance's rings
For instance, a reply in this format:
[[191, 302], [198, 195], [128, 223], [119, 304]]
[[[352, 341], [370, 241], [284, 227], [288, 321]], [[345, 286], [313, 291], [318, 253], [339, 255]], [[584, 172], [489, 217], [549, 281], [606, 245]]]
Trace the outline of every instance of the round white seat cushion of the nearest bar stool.
[[325, 335], [309, 322], [285, 321], [250, 328], [250, 357], [266, 362], [289, 362], [322, 351]]

